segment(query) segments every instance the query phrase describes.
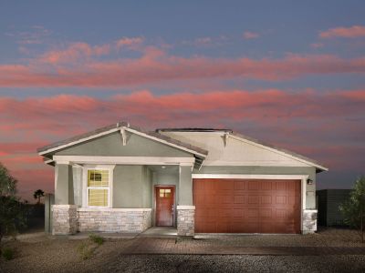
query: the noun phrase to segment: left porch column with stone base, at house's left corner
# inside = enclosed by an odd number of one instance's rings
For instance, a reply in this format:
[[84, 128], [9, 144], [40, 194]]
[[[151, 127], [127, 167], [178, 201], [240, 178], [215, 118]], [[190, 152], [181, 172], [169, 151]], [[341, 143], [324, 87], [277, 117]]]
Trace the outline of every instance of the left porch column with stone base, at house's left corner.
[[55, 167], [55, 205], [52, 206], [53, 235], [75, 234], [78, 229], [77, 206], [74, 205], [72, 166]]

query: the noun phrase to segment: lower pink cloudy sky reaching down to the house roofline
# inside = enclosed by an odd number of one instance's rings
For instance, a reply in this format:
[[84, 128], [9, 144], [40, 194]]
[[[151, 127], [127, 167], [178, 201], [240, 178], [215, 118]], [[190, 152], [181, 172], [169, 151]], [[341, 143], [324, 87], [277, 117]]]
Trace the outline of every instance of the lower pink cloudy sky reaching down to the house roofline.
[[[157, 54], [157, 53], [156, 53]], [[324, 106], [325, 105], [325, 106]], [[0, 98], [0, 161], [19, 180], [24, 197], [53, 188], [53, 169], [36, 147], [127, 120], [136, 126], [223, 126], [319, 159], [334, 169], [360, 169], [365, 90], [290, 92], [280, 89], [181, 92], [149, 90], [96, 98]], [[5, 140], [5, 136], [9, 139]], [[23, 143], [25, 141], [26, 143]]]

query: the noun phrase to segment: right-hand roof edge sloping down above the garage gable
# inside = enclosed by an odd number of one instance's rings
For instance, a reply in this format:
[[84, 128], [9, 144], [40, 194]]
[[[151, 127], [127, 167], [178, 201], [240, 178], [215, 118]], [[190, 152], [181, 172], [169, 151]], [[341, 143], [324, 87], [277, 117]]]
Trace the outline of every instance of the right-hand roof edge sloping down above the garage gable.
[[276, 147], [274, 145], [262, 142], [260, 140], [257, 140], [250, 136], [245, 136], [239, 133], [235, 133], [233, 130], [230, 129], [204, 129], [204, 128], [159, 128], [156, 129], [156, 132], [224, 132], [225, 134], [228, 134], [229, 136], [238, 137], [240, 139], [244, 139], [245, 141], [251, 142], [253, 144], [259, 145], [261, 147], [266, 147], [271, 150], [275, 150], [276, 152], [280, 152], [282, 154], [285, 154], [289, 157], [294, 157], [296, 159], [299, 159], [299, 161], [304, 161], [308, 163], [309, 165], [316, 167], [319, 171], [328, 171], [328, 167], [323, 167], [318, 163], [318, 161], [311, 159], [309, 157], [304, 157], [302, 155], [299, 155], [295, 152], [289, 151], [287, 149]]

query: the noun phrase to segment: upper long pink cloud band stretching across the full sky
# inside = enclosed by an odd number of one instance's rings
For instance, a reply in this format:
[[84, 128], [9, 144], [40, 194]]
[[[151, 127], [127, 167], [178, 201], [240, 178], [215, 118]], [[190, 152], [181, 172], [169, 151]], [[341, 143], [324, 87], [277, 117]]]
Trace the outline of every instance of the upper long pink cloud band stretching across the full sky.
[[0, 86], [120, 87], [161, 84], [171, 81], [253, 78], [286, 80], [298, 76], [365, 72], [365, 58], [343, 59], [326, 55], [287, 55], [283, 59], [208, 58], [169, 56], [156, 47], [145, 47], [137, 58], [113, 61], [86, 59], [95, 47], [78, 44], [65, 51], [50, 52], [28, 65], [0, 65]]

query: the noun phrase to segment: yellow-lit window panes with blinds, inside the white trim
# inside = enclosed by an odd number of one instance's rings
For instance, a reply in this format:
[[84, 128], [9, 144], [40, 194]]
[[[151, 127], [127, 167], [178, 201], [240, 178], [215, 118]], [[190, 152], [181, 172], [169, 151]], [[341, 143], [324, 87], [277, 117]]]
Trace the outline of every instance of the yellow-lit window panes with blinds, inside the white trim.
[[88, 169], [88, 206], [109, 207], [109, 169]]

